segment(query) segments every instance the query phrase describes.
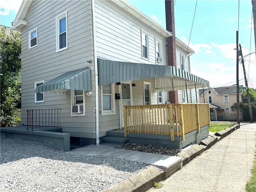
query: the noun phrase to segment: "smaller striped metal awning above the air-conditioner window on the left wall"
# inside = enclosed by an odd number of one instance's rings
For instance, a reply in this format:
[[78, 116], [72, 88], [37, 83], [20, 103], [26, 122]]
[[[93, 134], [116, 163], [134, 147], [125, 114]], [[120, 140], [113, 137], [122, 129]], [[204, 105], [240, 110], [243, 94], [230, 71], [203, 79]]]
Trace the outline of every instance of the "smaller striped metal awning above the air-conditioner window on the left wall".
[[54, 90], [91, 90], [90, 67], [73, 70], [44, 83], [35, 89], [35, 93]]

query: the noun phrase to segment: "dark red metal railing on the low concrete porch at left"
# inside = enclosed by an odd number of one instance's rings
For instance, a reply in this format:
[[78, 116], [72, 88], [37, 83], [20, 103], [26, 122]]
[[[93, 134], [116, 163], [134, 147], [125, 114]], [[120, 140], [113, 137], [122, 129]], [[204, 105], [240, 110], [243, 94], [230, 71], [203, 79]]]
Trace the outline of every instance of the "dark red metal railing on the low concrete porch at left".
[[29, 109], [27, 110], [28, 128], [43, 126], [59, 126], [59, 112], [61, 109]]

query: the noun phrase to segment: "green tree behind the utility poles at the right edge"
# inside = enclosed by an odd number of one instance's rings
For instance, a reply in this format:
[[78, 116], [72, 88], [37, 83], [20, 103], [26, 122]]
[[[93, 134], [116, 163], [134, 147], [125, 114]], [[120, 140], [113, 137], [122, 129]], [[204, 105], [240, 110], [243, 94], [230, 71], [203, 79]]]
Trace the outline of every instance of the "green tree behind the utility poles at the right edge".
[[[256, 90], [253, 88], [248, 88], [250, 101], [252, 104], [252, 116], [254, 121], [256, 121]], [[231, 106], [232, 111], [236, 111], [236, 103], [232, 104]], [[242, 102], [240, 102], [240, 112], [244, 116], [244, 120], [250, 120], [250, 112], [248, 107], [248, 100], [246, 96], [246, 90], [242, 93]]]

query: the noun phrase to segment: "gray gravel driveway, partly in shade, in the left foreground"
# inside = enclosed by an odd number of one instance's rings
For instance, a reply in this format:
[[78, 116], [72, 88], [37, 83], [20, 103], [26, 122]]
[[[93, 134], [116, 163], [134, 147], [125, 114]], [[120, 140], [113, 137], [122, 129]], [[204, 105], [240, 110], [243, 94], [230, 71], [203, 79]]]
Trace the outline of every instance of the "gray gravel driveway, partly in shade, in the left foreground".
[[0, 140], [0, 192], [98, 192], [149, 164], [106, 156], [77, 156], [54, 146]]

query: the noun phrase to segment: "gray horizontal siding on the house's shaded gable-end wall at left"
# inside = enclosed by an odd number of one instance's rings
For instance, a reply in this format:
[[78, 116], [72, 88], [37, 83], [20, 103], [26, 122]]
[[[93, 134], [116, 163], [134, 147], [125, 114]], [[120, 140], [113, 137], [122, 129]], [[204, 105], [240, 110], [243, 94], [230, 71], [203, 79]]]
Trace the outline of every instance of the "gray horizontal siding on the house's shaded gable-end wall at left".
[[[67, 11], [68, 49], [56, 52], [56, 16]], [[71, 116], [71, 91], [44, 94], [44, 102], [34, 103], [34, 82], [48, 82], [61, 74], [88, 66], [92, 54], [90, 1], [33, 1], [22, 29], [22, 123], [26, 110], [59, 108], [59, 122], [71, 136], [80, 132], [95, 138], [95, 97], [85, 96], [85, 116]], [[28, 32], [37, 27], [38, 46], [28, 49]], [[90, 64], [95, 95], [94, 66]], [[84, 94], [86, 94], [85, 92]]]

